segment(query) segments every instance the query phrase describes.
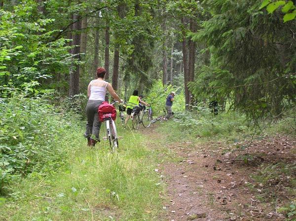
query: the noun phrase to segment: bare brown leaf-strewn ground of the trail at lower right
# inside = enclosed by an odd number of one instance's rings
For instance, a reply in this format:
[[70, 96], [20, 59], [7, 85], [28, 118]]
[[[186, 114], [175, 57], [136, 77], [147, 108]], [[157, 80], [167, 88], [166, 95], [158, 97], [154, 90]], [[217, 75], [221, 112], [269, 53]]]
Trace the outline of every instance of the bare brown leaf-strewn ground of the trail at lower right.
[[[167, 139], [154, 125], [145, 133], [150, 140]], [[277, 210], [295, 194], [290, 181], [295, 179], [296, 141], [279, 134], [256, 140], [250, 144], [248, 163], [238, 160], [242, 151], [229, 151], [244, 144], [248, 145], [246, 141], [230, 146], [216, 140], [166, 142], [164, 147], [180, 160], [164, 161], [155, 169], [169, 197], [160, 220], [284, 221]], [[289, 165], [292, 175], [285, 172]]]

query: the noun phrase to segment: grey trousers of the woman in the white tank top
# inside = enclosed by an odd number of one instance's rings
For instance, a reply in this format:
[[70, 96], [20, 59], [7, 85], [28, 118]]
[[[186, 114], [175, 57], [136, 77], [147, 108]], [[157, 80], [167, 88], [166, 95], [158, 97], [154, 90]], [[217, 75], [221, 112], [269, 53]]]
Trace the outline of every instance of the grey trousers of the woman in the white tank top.
[[98, 118], [98, 109], [102, 104], [102, 100], [88, 100], [86, 105], [86, 131], [84, 137], [91, 137], [92, 135], [95, 139], [99, 140], [99, 133], [101, 128], [101, 122]]

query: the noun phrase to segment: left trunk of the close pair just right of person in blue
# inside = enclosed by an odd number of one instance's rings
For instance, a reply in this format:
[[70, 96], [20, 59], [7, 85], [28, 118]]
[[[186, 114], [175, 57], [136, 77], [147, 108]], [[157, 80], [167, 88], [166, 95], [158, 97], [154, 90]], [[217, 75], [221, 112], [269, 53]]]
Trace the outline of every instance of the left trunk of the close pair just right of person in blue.
[[185, 27], [187, 26], [185, 18], [182, 17], [182, 24], [184, 26], [182, 30], [182, 35], [183, 35], [183, 41], [182, 41], [182, 51], [183, 51], [183, 67], [184, 67], [184, 86], [185, 86], [185, 108], [189, 108], [189, 101], [190, 101], [190, 95], [189, 95], [189, 90], [187, 87], [188, 83], [188, 48], [187, 48], [187, 42], [186, 42], [186, 32], [185, 32]]

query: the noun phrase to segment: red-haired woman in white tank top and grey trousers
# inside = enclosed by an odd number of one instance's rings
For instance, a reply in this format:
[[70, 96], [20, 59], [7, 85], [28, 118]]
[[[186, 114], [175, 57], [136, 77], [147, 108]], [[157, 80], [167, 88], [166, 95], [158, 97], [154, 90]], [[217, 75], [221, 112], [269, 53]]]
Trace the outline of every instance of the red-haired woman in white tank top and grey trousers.
[[86, 131], [84, 137], [87, 138], [87, 146], [95, 146], [97, 142], [100, 142], [99, 132], [101, 122], [98, 118], [98, 108], [105, 101], [107, 91], [111, 96], [121, 103], [121, 99], [115, 93], [111, 84], [104, 81], [106, 70], [103, 67], [97, 69], [97, 79], [92, 80], [87, 87], [88, 101], [86, 105]]

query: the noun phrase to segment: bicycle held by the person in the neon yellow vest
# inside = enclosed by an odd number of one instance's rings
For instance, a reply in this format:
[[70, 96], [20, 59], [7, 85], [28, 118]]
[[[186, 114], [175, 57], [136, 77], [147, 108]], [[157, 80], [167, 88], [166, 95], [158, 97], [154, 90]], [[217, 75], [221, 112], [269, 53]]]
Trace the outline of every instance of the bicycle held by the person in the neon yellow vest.
[[145, 105], [143, 105], [142, 108], [140, 106], [135, 106], [131, 114], [131, 119], [134, 129], [139, 129], [141, 123], [144, 127], [148, 128], [151, 125], [152, 108], [149, 107], [149, 109], [146, 110]]

